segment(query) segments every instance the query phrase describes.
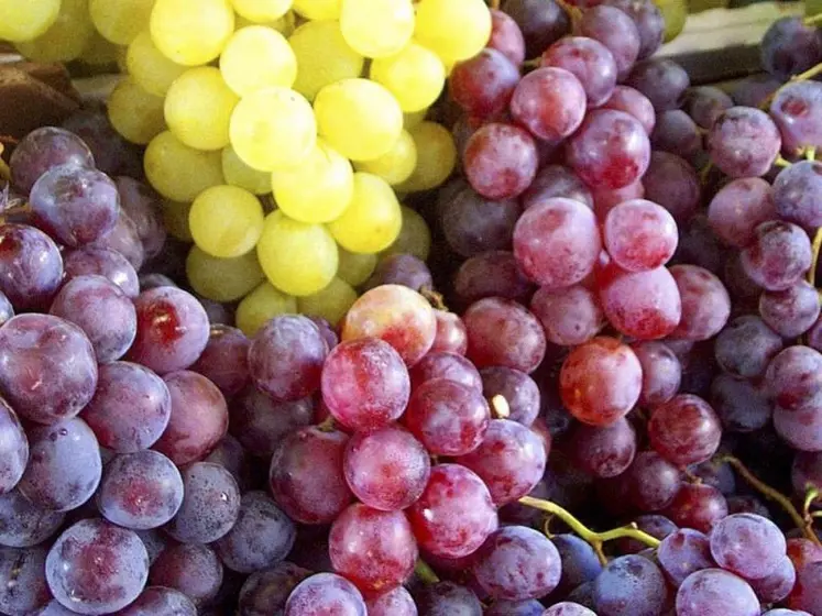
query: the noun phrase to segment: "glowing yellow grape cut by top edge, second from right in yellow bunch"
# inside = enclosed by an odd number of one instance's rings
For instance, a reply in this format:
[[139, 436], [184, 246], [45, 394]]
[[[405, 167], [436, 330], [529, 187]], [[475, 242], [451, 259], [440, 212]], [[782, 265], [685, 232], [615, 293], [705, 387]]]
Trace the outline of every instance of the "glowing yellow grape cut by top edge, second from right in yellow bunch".
[[340, 12], [342, 35], [365, 57], [396, 54], [414, 34], [412, 0], [344, 0]]

